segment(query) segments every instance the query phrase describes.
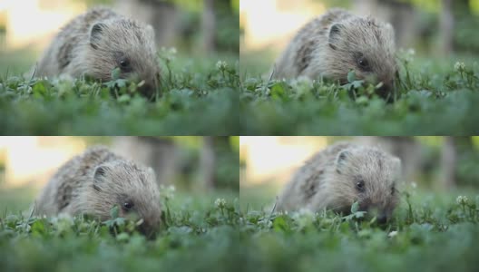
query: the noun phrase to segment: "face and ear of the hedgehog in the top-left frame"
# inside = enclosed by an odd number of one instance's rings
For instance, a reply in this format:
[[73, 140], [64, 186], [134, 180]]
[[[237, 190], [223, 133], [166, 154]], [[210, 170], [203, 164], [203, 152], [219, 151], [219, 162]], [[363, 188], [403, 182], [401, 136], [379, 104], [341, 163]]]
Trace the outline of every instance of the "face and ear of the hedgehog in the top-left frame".
[[143, 81], [139, 91], [152, 98], [158, 87], [160, 72], [151, 25], [129, 19], [94, 24], [90, 31], [90, 47], [92, 61], [89, 73], [94, 78], [111, 81], [112, 70], [118, 68], [121, 78], [137, 83]]

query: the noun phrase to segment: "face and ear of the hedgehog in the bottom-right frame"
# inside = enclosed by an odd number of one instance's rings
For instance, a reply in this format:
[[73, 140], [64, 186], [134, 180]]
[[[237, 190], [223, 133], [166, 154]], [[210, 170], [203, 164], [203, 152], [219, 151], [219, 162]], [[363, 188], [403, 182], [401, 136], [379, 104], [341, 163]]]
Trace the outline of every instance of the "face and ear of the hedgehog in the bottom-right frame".
[[386, 223], [397, 204], [397, 181], [401, 173], [401, 160], [375, 149], [347, 149], [339, 152], [335, 162], [335, 182], [340, 182], [340, 203], [349, 212], [350, 205], [358, 201], [360, 210], [376, 216]]

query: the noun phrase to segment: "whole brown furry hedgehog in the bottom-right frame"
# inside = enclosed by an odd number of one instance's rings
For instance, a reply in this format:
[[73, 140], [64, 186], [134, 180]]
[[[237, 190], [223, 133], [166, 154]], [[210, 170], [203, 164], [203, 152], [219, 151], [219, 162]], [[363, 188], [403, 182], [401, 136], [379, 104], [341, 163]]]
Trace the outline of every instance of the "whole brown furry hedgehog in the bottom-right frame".
[[[359, 202], [361, 210], [387, 219], [396, 207], [401, 160], [375, 148], [337, 143], [319, 151], [288, 182], [277, 209], [334, 209], [345, 214]], [[364, 180], [365, 190], [357, 189]]]

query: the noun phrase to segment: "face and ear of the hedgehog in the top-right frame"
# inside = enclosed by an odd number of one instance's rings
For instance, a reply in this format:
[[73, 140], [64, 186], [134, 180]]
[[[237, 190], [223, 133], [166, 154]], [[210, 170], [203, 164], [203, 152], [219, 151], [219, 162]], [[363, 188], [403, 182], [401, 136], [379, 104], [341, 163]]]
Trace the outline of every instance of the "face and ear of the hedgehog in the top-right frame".
[[330, 76], [347, 83], [347, 73], [354, 70], [358, 79], [383, 83], [378, 94], [386, 97], [396, 75], [395, 36], [391, 24], [373, 18], [354, 18], [331, 25], [328, 47], [335, 61]]

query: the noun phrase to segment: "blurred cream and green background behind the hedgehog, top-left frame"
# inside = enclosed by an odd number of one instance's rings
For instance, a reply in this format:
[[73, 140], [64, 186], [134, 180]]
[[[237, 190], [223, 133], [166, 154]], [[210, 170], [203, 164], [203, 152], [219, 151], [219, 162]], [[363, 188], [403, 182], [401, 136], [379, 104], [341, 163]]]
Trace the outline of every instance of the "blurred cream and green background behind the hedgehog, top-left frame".
[[27, 72], [64, 24], [96, 5], [152, 24], [159, 47], [238, 60], [239, 0], [1, 0], [0, 75]]

